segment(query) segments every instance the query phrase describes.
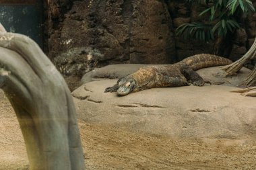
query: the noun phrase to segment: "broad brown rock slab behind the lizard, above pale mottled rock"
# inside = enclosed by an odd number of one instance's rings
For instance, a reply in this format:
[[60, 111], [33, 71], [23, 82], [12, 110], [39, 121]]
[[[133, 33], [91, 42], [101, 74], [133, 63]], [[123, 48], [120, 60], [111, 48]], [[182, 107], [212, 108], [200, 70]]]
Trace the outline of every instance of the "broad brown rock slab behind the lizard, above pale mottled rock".
[[160, 1], [74, 1], [61, 30], [51, 35], [50, 56], [92, 48], [103, 54], [98, 66], [168, 63], [175, 54], [171, 21]]

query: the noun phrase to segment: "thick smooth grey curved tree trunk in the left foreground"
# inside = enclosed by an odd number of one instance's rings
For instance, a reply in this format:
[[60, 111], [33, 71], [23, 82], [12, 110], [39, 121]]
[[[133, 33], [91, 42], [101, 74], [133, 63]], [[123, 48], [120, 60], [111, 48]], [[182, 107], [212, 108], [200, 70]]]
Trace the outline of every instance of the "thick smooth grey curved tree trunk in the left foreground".
[[20, 123], [30, 169], [85, 169], [73, 99], [49, 58], [13, 33], [0, 33], [0, 54], [0, 87]]

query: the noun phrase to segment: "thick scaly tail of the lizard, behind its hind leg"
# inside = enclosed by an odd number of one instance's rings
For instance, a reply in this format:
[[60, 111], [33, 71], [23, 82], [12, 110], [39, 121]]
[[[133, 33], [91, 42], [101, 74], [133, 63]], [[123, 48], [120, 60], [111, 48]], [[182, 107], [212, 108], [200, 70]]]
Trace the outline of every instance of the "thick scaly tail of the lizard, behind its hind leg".
[[230, 65], [231, 63], [232, 61], [228, 58], [214, 54], [195, 54], [181, 61], [181, 64], [188, 65], [194, 71], [207, 67]]

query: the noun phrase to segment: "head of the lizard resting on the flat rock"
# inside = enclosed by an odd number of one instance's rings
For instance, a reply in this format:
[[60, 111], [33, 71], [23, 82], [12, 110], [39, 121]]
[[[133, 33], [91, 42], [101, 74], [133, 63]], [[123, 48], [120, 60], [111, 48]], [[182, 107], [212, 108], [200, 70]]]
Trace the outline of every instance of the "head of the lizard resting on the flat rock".
[[123, 96], [131, 93], [135, 89], [136, 81], [134, 79], [121, 79], [119, 81], [119, 89], [117, 89], [117, 95]]

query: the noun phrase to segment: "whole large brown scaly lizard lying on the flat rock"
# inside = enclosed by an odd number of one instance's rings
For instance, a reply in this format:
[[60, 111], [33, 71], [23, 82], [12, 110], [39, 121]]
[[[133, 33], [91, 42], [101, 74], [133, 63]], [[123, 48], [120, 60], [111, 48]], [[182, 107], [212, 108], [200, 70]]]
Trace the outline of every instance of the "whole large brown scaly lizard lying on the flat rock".
[[117, 81], [113, 87], [104, 92], [117, 91], [123, 96], [132, 92], [155, 87], [180, 87], [189, 85], [202, 86], [205, 84], [195, 71], [206, 67], [229, 65], [232, 61], [213, 54], [196, 54], [165, 67], [142, 67], [135, 73], [127, 75]]

